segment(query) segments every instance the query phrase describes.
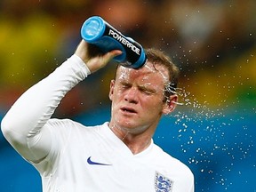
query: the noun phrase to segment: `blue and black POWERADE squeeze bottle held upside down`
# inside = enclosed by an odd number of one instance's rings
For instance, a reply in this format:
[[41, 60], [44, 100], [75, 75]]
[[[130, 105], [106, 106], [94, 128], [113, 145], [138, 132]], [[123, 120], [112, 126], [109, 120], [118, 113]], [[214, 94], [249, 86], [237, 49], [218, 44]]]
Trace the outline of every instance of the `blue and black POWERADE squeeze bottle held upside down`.
[[89, 44], [95, 44], [102, 52], [121, 50], [122, 54], [114, 58], [126, 68], [140, 68], [147, 57], [142, 46], [130, 37], [122, 35], [99, 16], [84, 21], [81, 36]]

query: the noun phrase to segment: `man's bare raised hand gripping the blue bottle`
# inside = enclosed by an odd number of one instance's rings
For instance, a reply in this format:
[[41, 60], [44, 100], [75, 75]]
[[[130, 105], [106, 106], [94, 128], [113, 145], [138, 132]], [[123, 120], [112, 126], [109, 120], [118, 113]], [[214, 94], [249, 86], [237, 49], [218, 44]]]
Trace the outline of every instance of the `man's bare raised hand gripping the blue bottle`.
[[75, 54], [84, 60], [86, 66], [90, 69], [91, 73], [105, 67], [110, 60], [112, 60], [117, 55], [122, 54], [120, 50], [113, 50], [105, 54], [92, 54], [89, 52], [89, 44], [84, 40], [77, 46]]

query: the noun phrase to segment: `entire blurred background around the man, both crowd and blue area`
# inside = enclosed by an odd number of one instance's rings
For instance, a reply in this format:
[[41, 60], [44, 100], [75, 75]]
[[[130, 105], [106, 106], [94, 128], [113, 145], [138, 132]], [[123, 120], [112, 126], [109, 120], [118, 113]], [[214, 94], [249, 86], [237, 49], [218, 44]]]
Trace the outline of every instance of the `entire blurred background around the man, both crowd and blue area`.
[[[100, 15], [179, 66], [180, 105], [164, 116], [154, 140], [194, 172], [196, 191], [256, 191], [255, 10], [254, 0], [1, 0], [0, 120], [73, 54], [84, 20]], [[115, 67], [68, 92], [54, 116], [108, 121]], [[2, 132], [0, 174], [0, 191], [41, 191], [39, 174]]]

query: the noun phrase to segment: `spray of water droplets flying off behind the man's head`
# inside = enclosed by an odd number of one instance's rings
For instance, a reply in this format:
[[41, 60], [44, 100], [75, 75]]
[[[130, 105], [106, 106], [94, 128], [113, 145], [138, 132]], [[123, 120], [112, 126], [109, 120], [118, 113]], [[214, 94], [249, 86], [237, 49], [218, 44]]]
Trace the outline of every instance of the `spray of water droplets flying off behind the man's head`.
[[[235, 167], [247, 161], [254, 148], [246, 118], [237, 116], [237, 111], [230, 115], [225, 108], [210, 108], [183, 88], [177, 88], [176, 93], [180, 100], [172, 118], [178, 127], [176, 139], [183, 152], [180, 156], [188, 156], [187, 163], [197, 177], [225, 190], [232, 188], [235, 181], [227, 175], [243, 177]], [[252, 166], [255, 169], [255, 163]]]

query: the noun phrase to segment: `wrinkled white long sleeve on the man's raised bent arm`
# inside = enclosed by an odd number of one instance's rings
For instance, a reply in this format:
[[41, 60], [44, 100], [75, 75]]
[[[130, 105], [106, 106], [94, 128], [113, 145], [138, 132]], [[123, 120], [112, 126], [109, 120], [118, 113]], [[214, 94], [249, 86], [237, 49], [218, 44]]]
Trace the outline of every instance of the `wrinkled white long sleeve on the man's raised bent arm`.
[[89, 74], [84, 61], [74, 54], [13, 104], [2, 120], [1, 129], [21, 156], [38, 163], [48, 155], [52, 148], [51, 132], [44, 124], [65, 94]]

